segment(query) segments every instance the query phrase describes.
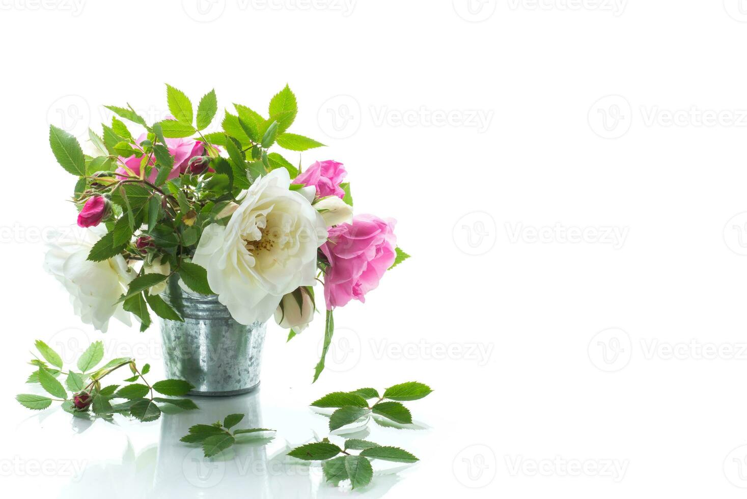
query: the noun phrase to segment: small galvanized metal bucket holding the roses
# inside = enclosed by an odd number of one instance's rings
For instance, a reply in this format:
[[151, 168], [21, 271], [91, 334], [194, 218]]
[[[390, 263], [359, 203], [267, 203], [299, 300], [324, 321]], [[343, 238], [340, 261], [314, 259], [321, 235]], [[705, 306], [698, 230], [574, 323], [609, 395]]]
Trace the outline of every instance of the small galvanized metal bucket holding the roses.
[[185, 320], [159, 317], [164, 368], [194, 385], [193, 395], [236, 395], [259, 385], [267, 323], [236, 322], [216, 295], [186, 291], [171, 276], [161, 297]]

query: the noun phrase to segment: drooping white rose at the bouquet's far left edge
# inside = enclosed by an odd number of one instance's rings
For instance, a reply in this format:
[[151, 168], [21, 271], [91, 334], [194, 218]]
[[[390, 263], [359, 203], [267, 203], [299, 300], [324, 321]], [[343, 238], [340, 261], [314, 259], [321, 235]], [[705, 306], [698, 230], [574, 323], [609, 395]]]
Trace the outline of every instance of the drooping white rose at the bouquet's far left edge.
[[134, 279], [134, 272], [122, 255], [105, 261], [86, 259], [93, 244], [105, 233], [101, 226], [71, 231], [49, 244], [44, 258], [46, 270], [69, 292], [75, 314], [101, 332], [106, 332], [111, 317], [131, 325], [130, 314], [122, 308], [122, 303], [115, 303]]

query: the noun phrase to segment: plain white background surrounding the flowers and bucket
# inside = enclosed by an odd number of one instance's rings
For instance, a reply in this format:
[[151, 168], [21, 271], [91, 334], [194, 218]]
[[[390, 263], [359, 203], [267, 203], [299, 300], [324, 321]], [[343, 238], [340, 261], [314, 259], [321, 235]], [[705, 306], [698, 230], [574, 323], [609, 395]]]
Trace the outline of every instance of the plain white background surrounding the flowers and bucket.
[[[368, 497], [743, 497], [747, 1], [182, 3], [0, 0], [4, 490], [257, 486], [154, 472], [179, 452], [166, 418], [81, 431], [13, 397], [36, 338], [161, 362], [157, 328], [94, 332], [42, 269], [40, 233], [75, 221], [49, 124], [83, 136], [125, 102], [154, 121], [166, 82], [264, 111], [288, 82], [291, 131], [329, 145], [303, 164], [343, 162], [356, 211], [397, 218], [413, 256], [335, 314], [314, 385], [323, 320], [289, 344], [270, 325], [257, 397], [275, 444], [323, 433], [321, 394], [419, 380], [435, 391], [408, 405], [430, 429], [371, 439], [421, 462]], [[347, 494], [318, 482], [263, 490]]]

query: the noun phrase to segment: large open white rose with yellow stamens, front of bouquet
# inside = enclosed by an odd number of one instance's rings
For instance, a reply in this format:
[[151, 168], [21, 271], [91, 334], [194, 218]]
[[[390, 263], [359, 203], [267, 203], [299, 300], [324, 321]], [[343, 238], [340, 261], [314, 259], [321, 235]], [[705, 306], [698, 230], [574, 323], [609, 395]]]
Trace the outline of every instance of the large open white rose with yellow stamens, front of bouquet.
[[199, 239], [193, 262], [208, 270], [218, 300], [242, 324], [264, 322], [283, 295], [316, 282], [326, 223], [290, 185], [285, 168], [257, 179], [229, 223], [211, 224]]

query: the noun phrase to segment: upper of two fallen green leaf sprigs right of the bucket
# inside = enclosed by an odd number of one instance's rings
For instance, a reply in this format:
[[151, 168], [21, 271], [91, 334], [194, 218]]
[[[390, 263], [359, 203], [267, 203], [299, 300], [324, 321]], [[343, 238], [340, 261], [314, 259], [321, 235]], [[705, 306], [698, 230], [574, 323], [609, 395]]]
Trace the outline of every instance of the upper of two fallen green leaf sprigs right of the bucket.
[[[412, 414], [403, 402], [421, 399], [433, 391], [428, 385], [410, 381], [386, 388], [379, 396], [375, 388], [335, 391], [311, 403], [313, 407], [336, 408], [329, 416], [329, 430], [337, 430], [367, 415], [379, 415], [397, 424], [412, 424]], [[369, 400], [375, 400], [373, 404]], [[374, 419], [376, 421], [376, 419]]]

